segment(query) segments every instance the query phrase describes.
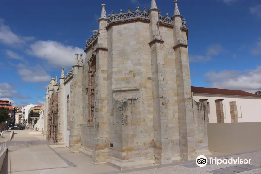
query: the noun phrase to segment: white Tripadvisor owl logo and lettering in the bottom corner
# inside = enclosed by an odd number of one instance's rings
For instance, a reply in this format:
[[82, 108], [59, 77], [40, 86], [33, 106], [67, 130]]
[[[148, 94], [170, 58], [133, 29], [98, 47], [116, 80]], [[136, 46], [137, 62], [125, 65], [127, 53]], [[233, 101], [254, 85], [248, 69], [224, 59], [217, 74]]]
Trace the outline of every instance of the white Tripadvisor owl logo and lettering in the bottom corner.
[[196, 164], [199, 167], [204, 167], [208, 164], [250, 164], [251, 159], [240, 159], [240, 158], [227, 158], [227, 159], [218, 159], [218, 158], [207, 158], [204, 155], [200, 155], [196, 158]]

